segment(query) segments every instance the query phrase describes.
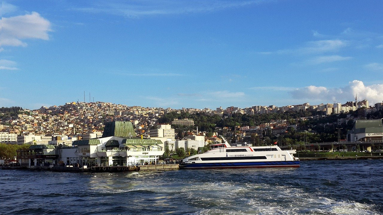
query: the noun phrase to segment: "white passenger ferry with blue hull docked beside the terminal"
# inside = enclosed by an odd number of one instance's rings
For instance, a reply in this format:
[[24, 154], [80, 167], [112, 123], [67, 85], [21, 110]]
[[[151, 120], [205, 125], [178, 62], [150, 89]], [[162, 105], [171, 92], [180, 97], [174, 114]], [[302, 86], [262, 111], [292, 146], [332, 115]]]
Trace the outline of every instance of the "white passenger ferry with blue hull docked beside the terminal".
[[296, 150], [281, 150], [278, 146], [252, 147], [251, 144], [238, 144], [231, 147], [224, 143], [210, 145], [210, 150], [182, 160], [181, 168], [264, 168], [299, 167], [299, 158], [293, 154]]

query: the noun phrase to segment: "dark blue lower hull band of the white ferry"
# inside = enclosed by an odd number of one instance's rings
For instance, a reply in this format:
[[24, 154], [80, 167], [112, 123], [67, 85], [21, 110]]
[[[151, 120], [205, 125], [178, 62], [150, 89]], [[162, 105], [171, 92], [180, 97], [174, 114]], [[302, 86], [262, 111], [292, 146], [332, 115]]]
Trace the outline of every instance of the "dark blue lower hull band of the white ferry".
[[300, 161], [259, 161], [259, 162], [226, 162], [226, 163], [188, 163], [182, 168], [241, 168], [241, 167], [299, 167]]

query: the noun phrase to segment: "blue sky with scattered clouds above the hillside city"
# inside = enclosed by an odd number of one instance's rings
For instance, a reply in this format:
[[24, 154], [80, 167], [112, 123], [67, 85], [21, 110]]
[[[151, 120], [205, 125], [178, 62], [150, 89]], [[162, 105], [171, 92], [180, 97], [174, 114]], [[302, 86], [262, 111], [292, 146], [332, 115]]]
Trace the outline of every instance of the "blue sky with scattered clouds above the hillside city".
[[383, 101], [383, 2], [2, 1], [0, 106]]

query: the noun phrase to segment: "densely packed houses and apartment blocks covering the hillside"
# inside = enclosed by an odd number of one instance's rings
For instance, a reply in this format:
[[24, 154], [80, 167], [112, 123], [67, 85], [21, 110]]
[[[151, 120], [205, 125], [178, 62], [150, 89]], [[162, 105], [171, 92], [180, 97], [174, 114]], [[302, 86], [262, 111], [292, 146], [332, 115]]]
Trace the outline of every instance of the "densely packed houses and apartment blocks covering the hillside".
[[[142, 134], [144, 137], [162, 137], [165, 138], [164, 132], [159, 134], [151, 129], [158, 130], [157, 124], [160, 117], [170, 112], [188, 112], [190, 114], [204, 113], [210, 116], [218, 115], [226, 118], [232, 114], [271, 114], [283, 113], [286, 111], [322, 111], [325, 115], [348, 113], [358, 109], [358, 118], [363, 119], [367, 114], [376, 112], [382, 108], [382, 103], [376, 103], [369, 106], [367, 100], [355, 102], [349, 101], [345, 104], [327, 103], [319, 105], [310, 105], [309, 103], [288, 105], [283, 107], [270, 106], [252, 106], [249, 108], [222, 107], [215, 110], [205, 108], [144, 108], [140, 106], [126, 106], [123, 104], [113, 104], [107, 102], [70, 102], [61, 106], [42, 106], [40, 109], [29, 110], [24, 109], [19, 111], [17, 116], [4, 117], [4, 113], [0, 113], [0, 142], [8, 144], [54, 144], [59, 142], [65, 145], [71, 145], [77, 139], [97, 138], [102, 135], [103, 127], [106, 122], [111, 121], [130, 121], [134, 125], [137, 134]], [[339, 119], [338, 124], [349, 121], [355, 121], [355, 117], [350, 114], [346, 119]], [[305, 117], [299, 117], [296, 120], [305, 120]], [[178, 122], [177, 122], [178, 121]], [[186, 124], [185, 124], [186, 123]], [[193, 126], [191, 119], [174, 119], [172, 125]], [[287, 127], [291, 125], [286, 120], [277, 120], [257, 124], [255, 126], [238, 126], [238, 131], [242, 134], [239, 136], [245, 137], [246, 132], [262, 134], [265, 129], [272, 130], [272, 134], [282, 134], [286, 132]], [[164, 126], [163, 126], [164, 127]], [[164, 127], [165, 128], [165, 127]], [[165, 129], [170, 129], [166, 127]], [[197, 128], [198, 129], [198, 128]], [[201, 129], [201, 128], [200, 128]], [[221, 128], [222, 130], [223, 128]], [[174, 129], [171, 129], [172, 134], [169, 136], [172, 140], [175, 138], [181, 139], [184, 137], [176, 137]], [[226, 129], [226, 132], [230, 129]], [[196, 133], [198, 130], [189, 130], [188, 135], [206, 135], [206, 131], [200, 130], [203, 133]], [[166, 132], [165, 132], [166, 133]], [[216, 134], [216, 133], [215, 133]]]

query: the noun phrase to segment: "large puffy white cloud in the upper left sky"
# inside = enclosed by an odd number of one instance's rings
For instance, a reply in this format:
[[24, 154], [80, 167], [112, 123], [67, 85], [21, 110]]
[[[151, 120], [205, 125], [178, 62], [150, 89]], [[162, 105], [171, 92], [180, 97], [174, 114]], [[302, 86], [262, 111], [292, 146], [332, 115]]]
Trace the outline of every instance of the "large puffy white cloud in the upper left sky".
[[40, 16], [37, 12], [31, 14], [2, 18], [0, 42], [2, 46], [26, 46], [23, 39], [48, 40], [48, 32], [51, 30], [51, 23]]

